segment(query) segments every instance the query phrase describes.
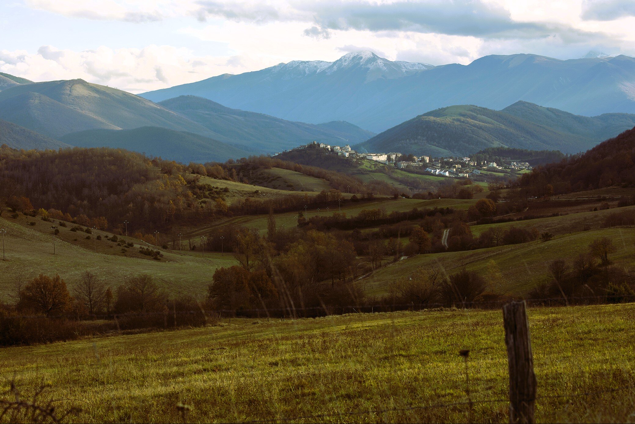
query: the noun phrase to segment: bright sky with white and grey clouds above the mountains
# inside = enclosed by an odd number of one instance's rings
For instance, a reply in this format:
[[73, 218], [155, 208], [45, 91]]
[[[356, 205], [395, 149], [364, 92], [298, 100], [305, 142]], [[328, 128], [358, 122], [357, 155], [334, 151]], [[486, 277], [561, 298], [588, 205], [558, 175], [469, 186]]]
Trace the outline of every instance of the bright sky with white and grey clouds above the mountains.
[[432, 65], [635, 56], [635, 1], [2, 0], [0, 29], [0, 72], [142, 93], [361, 50]]

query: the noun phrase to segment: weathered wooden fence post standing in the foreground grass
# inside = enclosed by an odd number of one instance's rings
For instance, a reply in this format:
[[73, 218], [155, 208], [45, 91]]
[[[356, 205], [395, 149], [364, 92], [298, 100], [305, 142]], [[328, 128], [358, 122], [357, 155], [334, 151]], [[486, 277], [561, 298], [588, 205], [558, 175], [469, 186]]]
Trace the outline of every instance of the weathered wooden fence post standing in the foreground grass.
[[503, 320], [509, 362], [509, 422], [533, 423], [536, 374], [533, 373], [525, 301], [512, 301], [504, 305]]

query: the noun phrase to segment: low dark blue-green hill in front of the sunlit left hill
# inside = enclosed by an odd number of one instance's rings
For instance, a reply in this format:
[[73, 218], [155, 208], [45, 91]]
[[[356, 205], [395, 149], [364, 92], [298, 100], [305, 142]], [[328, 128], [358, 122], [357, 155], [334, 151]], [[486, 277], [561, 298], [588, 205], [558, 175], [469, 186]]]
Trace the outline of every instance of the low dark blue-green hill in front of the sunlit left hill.
[[224, 162], [248, 152], [202, 135], [145, 126], [135, 129], [89, 129], [60, 138], [77, 147], [113, 147], [178, 162]]

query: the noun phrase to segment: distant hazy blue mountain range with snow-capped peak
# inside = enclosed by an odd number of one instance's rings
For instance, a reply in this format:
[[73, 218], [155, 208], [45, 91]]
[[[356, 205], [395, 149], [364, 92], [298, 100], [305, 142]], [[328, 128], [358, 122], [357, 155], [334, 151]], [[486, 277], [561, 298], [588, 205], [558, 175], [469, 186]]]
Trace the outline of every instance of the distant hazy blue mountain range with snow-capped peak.
[[559, 60], [490, 55], [469, 65], [390, 61], [370, 51], [335, 62], [281, 63], [143, 93], [161, 102], [196, 95], [227, 107], [307, 123], [344, 120], [385, 131], [422, 110], [457, 104], [502, 109], [524, 100], [584, 116], [635, 112], [635, 59]]

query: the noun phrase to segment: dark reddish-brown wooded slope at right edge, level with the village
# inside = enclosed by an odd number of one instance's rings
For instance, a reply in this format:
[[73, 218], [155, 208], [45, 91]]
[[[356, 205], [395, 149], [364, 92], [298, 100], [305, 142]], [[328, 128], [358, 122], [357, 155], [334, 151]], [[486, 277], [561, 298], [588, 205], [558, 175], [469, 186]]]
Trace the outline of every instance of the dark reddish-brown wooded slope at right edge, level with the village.
[[600, 143], [584, 154], [533, 169], [517, 186], [528, 195], [542, 196], [613, 185], [635, 185], [635, 129]]

